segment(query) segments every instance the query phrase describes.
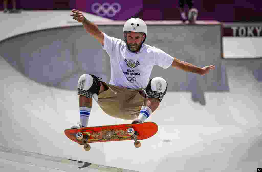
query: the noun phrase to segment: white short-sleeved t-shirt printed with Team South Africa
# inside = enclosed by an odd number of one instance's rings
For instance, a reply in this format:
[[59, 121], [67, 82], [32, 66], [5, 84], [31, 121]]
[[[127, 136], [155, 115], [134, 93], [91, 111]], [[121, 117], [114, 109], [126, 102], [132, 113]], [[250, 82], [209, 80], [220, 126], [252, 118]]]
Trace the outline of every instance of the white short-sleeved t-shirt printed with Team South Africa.
[[173, 57], [161, 49], [143, 43], [137, 53], [131, 52], [124, 41], [104, 33], [104, 46], [110, 57], [109, 84], [124, 88], [145, 88], [154, 65], [164, 69], [171, 66]]

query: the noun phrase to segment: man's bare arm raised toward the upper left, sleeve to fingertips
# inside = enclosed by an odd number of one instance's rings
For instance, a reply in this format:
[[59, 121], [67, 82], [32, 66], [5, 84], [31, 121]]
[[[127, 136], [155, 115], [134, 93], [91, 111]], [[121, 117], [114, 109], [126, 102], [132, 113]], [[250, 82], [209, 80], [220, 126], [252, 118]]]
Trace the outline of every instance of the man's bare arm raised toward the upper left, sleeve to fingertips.
[[72, 12], [75, 14], [70, 14], [70, 16], [72, 16], [74, 20], [83, 23], [86, 32], [90, 33], [90, 35], [94, 36], [102, 45], [104, 45], [104, 34], [99, 30], [97, 25], [87, 20], [80, 11], [73, 9]]

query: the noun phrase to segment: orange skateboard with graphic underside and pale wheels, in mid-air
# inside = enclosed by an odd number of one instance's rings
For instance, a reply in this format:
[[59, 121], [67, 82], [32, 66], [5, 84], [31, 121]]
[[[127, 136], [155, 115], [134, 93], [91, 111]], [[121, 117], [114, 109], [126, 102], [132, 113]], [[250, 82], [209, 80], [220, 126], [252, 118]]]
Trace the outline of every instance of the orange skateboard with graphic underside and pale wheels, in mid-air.
[[134, 140], [135, 147], [140, 147], [138, 140], [147, 139], [156, 134], [158, 126], [154, 122], [139, 124], [118, 124], [79, 129], [65, 129], [65, 135], [74, 142], [84, 145], [86, 151], [90, 150], [88, 143]]

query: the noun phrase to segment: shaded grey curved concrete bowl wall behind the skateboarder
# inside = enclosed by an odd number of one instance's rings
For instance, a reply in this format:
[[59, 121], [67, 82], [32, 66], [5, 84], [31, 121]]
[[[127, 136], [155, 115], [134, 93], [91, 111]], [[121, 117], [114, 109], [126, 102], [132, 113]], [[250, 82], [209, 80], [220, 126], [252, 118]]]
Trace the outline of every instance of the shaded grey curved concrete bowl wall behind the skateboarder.
[[[121, 22], [102, 24], [99, 28], [110, 36], [123, 38]], [[206, 91], [229, 91], [226, 70], [221, 65], [219, 23], [195, 26], [151, 23], [145, 43], [196, 66], [216, 65], [216, 70], [205, 76], [154, 66], [151, 78], [165, 78], [168, 91], [189, 91], [194, 101], [202, 102]], [[0, 56], [26, 77], [47, 86], [76, 90], [79, 76], [84, 73], [95, 74], [107, 83], [110, 80], [110, 59], [83, 26], [40, 30], [9, 38], [1, 42]]]

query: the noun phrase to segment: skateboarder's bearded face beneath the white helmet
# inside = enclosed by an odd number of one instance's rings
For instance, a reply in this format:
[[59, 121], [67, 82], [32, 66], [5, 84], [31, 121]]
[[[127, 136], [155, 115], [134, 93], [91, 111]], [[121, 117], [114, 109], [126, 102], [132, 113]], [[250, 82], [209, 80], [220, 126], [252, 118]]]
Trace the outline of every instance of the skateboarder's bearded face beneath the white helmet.
[[127, 32], [126, 37], [127, 37], [127, 46], [133, 52], [139, 50], [140, 45], [145, 39], [144, 33], [140, 33], [140, 32]]

